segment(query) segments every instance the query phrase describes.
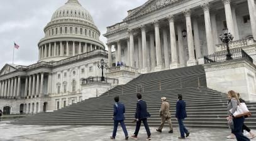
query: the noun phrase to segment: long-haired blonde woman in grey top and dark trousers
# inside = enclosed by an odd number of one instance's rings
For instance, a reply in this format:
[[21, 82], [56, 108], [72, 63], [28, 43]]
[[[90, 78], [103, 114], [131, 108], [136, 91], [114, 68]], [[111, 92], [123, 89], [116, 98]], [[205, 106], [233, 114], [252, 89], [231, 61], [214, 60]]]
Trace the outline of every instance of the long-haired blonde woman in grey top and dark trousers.
[[237, 111], [237, 106], [240, 104], [237, 93], [235, 93], [235, 91], [233, 90], [228, 91], [228, 98], [230, 99], [230, 103], [228, 103], [229, 116], [226, 117], [226, 119], [228, 121], [233, 120], [233, 128], [231, 129], [231, 132], [235, 135], [237, 141], [249, 141], [250, 139], [245, 137], [242, 133], [242, 127], [243, 122], [245, 121], [245, 117], [233, 117], [233, 113]]

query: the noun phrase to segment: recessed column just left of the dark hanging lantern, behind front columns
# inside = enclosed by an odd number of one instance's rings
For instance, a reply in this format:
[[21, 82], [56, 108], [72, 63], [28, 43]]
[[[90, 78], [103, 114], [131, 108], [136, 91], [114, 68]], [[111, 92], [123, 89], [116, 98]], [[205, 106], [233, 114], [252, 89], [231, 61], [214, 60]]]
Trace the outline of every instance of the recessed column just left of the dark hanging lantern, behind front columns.
[[177, 34], [178, 34], [178, 43], [179, 43], [179, 63], [180, 67], [186, 66], [186, 56], [183, 46], [183, 36], [182, 36], [182, 28], [181, 23], [177, 24]]

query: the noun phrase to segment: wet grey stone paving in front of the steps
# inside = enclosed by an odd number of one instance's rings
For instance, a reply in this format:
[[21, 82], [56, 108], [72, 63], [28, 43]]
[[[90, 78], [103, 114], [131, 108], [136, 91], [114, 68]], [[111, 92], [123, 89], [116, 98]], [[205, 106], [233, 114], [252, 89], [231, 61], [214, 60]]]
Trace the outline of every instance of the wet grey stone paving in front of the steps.
[[[0, 122], [0, 140], [1, 141], [107, 141], [110, 140], [113, 127], [104, 126], [43, 126], [43, 125], [9, 125], [8, 122]], [[127, 127], [131, 135], [135, 127]], [[164, 128], [162, 133], [155, 131], [155, 127], [150, 128], [152, 131], [152, 140], [179, 140], [179, 130], [175, 128], [174, 133], [167, 133], [168, 128]], [[199, 129], [189, 128], [191, 136], [186, 140], [192, 141], [231, 141], [226, 136], [230, 130], [225, 129]], [[146, 140], [147, 133], [142, 127], [137, 141]], [[121, 127], [118, 128], [116, 140], [125, 140]], [[129, 138], [129, 140], [133, 140]], [[253, 139], [256, 141], [256, 138]]]

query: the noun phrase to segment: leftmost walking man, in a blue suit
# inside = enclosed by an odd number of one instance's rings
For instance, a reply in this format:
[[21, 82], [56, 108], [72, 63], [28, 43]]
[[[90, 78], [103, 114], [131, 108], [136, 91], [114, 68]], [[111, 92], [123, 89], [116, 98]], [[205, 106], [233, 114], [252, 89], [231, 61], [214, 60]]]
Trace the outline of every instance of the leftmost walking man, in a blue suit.
[[118, 130], [118, 123], [121, 124], [121, 127], [123, 128], [123, 132], [125, 133], [125, 140], [128, 140], [128, 132], [125, 127], [125, 105], [123, 103], [119, 102], [119, 97], [114, 97], [114, 101], [116, 102], [114, 104], [114, 113], [113, 113], [113, 120], [114, 120], [114, 130], [113, 135], [110, 137], [110, 139], [116, 138], [116, 130]]

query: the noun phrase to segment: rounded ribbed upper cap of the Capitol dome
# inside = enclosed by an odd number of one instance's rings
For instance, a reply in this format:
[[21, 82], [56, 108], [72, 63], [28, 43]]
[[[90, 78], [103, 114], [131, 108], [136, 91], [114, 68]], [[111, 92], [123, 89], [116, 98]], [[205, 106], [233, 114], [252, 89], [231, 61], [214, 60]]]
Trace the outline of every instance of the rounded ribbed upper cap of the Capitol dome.
[[55, 19], [83, 19], [94, 24], [91, 14], [81, 6], [77, 0], [69, 0], [67, 3], [58, 8], [52, 15], [52, 21]]

